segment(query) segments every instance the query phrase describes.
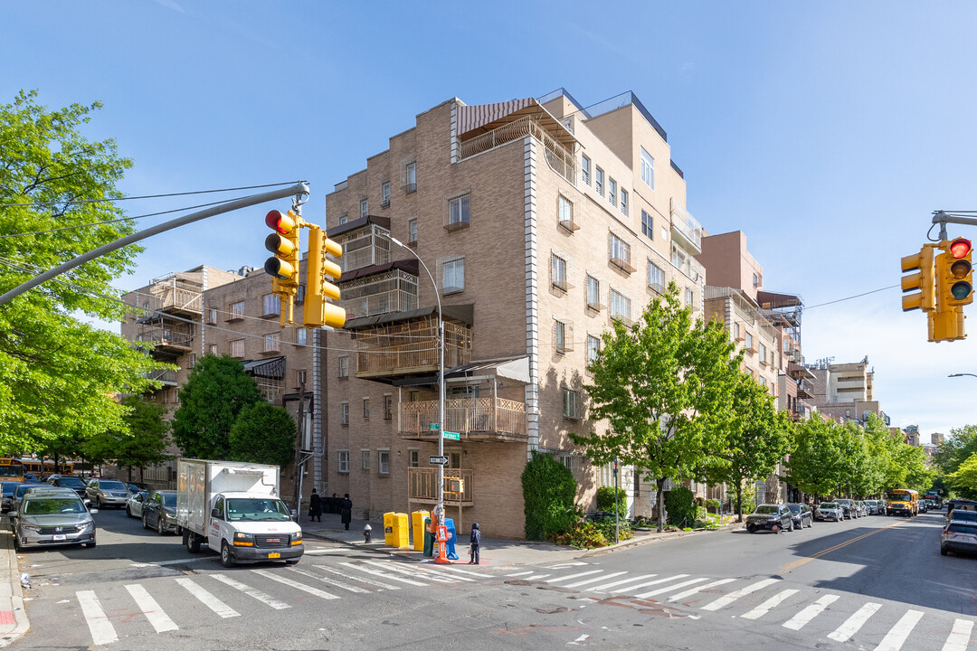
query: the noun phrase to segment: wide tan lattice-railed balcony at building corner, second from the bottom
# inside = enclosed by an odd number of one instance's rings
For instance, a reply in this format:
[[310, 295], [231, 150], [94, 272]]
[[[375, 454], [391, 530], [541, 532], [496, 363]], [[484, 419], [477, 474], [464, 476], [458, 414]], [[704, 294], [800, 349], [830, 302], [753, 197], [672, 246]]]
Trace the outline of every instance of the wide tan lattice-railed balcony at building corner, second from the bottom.
[[[401, 438], [437, 440], [438, 400], [402, 402]], [[462, 440], [526, 441], [526, 405], [504, 398], [456, 398], [445, 403], [446, 431]]]

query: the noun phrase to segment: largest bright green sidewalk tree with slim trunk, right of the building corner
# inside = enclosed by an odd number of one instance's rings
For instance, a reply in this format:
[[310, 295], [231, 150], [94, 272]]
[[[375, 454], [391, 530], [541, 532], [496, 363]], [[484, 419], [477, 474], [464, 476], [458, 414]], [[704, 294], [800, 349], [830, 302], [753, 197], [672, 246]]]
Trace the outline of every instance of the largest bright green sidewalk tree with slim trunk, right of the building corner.
[[666, 480], [704, 480], [719, 463], [741, 358], [720, 323], [693, 320], [674, 282], [633, 326], [616, 321], [603, 340], [585, 388], [593, 420], [609, 427], [571, 438], [595, 464], [616, 456], [655, 482], [663, 505]]

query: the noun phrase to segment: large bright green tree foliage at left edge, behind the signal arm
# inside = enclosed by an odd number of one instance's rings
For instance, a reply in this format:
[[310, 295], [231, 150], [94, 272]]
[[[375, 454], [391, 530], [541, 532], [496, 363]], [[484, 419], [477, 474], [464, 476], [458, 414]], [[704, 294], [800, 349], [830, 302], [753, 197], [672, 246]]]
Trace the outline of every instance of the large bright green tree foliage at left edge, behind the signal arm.
[[[106, 201], [121, 196], [115, 183], [132, 161], [80, 131], [99, 107], [48, 110], [22, 91], [0, 104], [0, 204], [16, 204], [0, 209], [0, 293], [134, 231]], [[113, 395], [142, 392], [143, 374], [160, 365], [79, 318], [123, 319], [110, 283], [140, 251], [107, 254], [0, 306], [0, 452], [122, 427]]]

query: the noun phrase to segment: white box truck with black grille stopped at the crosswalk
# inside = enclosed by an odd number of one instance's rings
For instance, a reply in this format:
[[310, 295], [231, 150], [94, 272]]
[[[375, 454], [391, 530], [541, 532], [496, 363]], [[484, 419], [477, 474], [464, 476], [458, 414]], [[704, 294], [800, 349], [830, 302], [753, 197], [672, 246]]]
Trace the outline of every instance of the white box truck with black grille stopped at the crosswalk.
[[221, 563], [299, 562], [302, 527], [278, 499], [277, 466], [177, 461], [177, 532], [191, 553], [204, 544]]

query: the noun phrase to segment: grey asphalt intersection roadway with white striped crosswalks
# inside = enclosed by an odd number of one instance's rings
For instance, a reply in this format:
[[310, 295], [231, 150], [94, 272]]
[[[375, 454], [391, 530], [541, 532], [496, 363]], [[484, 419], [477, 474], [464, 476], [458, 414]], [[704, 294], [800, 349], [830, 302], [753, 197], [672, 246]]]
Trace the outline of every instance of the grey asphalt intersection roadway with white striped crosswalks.
[[960, 651], [977, 620], [977, 558], [940, 555], [942, 513], [446, 569], [312, 541], [293, 567], [225, 569], [95, 517], [98, 548], [21, 555], [31, 631], [11, 648]]

